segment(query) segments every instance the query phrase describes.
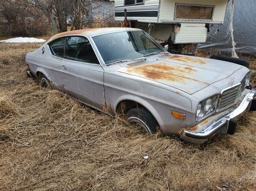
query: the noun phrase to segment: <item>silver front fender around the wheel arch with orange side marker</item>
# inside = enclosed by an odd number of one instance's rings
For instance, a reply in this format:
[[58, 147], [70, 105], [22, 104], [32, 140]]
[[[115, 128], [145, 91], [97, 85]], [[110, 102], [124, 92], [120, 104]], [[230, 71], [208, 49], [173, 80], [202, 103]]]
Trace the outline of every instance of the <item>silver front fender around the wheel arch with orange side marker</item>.
[[[151, 112], [165, 135], [177, 134], [180, 129], [196, 124], [192, 96], [190, 100], [178, 92], [107, 73], [104, 74], [104, 89], [108, 111], [116, 114], [121, 101], [135, 101]], [[174, 118], [172, 110], [186, 114], [186, 119]]]

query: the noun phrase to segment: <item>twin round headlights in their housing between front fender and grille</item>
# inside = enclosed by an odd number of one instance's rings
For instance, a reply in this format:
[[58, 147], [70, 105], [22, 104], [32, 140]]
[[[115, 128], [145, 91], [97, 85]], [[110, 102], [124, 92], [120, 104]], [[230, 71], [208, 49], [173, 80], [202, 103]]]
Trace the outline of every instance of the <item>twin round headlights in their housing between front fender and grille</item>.
[[218, 101], [219, 94], [213, 95], [211, 97], [206, 98], [205, 100], [200, 101], [197, 105], [197, 121], [200, 121], [200, 119], [203, 119], [206, 116], [213, 114], [213, 112], [216, 111]]

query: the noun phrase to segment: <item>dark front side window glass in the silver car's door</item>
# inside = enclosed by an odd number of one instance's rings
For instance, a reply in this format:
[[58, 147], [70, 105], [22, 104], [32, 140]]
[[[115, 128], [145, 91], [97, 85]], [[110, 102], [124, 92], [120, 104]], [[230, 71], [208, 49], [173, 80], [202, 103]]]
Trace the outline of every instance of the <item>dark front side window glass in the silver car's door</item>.
[[85, 37], [66, 37], [64, 58], [99, 64], [89, 40]]

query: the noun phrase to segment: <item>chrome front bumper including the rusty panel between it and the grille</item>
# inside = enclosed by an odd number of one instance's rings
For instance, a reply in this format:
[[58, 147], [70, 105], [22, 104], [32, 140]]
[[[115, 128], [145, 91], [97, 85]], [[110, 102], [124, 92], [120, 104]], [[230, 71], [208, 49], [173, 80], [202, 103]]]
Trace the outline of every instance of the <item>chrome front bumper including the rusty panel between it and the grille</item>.
[[256, 101], [255, 96], [256, 90], [251, 90], [245, 95], [244, 99], [236, 109], [226, 110], [225, 112], [207, 118], [193, 128], [183, 130], [180, 133], [181, 139], [201, 144], [218, 132], [226, 134], [228, 128], [231, 128], [233, 123], [237, 121], [246, 110], [250, 110], [252, 101]]

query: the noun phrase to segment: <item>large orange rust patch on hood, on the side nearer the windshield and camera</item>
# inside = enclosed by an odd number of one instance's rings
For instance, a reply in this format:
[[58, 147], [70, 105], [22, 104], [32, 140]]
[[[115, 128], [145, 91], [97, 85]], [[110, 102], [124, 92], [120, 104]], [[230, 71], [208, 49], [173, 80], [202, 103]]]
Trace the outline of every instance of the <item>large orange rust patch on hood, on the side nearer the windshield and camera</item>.
[[153, 64], [127, 68], [127, 72], [134, 75], [144, 76], [147, 79], [156, 81], [165, 80], [186, 84], [189, 83], [189, 81], [193, 80], [200, 83], [208, 84], [206, 82], [193, 79], [192, 77], [187, 77], [187, 75], [197, 72], [196, 69], [193, 69], [191, 67], [180, 67], [177, 65], [170, 65], [166, 62], [157, 62]]

